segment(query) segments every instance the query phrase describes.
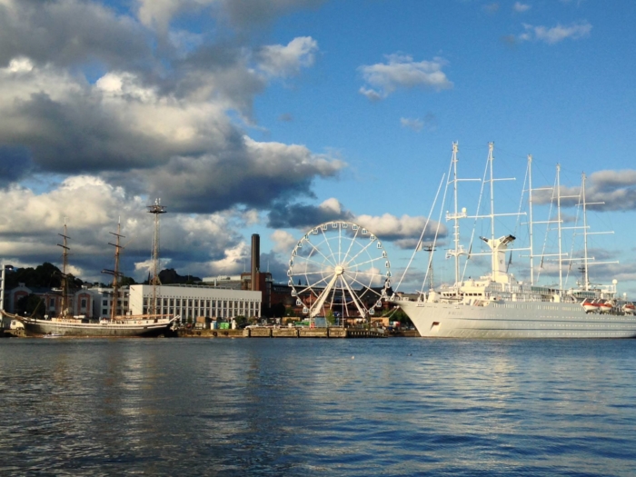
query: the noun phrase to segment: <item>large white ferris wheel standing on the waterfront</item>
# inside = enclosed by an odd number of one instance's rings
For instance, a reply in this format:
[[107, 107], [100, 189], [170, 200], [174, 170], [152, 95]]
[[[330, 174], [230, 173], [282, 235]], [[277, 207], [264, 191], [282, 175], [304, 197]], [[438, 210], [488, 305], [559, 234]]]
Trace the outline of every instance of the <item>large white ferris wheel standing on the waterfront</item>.
[[382, 307], [391, 263], [378, 238], [351, 222], [320, 224], [293, 247], [287, 271], [296, 305], [316, 316], [366, 319]]

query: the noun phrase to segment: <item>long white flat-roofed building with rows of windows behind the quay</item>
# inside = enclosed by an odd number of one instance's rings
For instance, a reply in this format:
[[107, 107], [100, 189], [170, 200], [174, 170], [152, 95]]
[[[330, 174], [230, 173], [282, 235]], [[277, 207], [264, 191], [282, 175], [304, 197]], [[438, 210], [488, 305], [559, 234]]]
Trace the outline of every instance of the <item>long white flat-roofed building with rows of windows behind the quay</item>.
[[[149, 313], [152, 285], [131, 285], [129, 294], [132, 314]], [[157, 286], [157, 313], [178, 314], [182, 321], [199, 316], [229, 319], [234, 316], [261, 317], [261, 292], [227, 290], [203, 285]]]

